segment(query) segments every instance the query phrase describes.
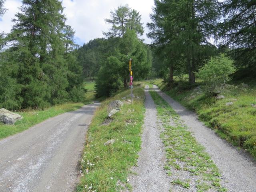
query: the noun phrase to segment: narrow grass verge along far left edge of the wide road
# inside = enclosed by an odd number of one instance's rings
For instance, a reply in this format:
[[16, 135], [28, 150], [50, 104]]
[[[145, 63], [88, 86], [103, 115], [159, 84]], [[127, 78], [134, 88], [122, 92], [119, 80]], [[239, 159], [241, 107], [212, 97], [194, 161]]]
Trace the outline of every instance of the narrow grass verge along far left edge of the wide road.
[[66, 103], [50, 107], [46, 110], [30, 110], [28, 112], [18, 112], [18, 114], [23, 116], [22, 120], [17, 121], [14, 125], [0, 124], [0, 139], [22, 132], [34, 126], [35, 124], [38, 124], [58, 114], [77, 110], [83, 105], [83, 103]]

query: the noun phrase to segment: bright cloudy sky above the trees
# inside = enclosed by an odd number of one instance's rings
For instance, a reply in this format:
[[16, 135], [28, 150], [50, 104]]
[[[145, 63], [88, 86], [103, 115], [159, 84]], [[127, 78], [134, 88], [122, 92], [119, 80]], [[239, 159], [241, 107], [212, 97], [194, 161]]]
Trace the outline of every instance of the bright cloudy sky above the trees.
[[[19, 11], [22, 0], [6, 0], [4, 7], [6, 14], [0, 18], [0, 32], [10, 32], [12, 18]], [[67, 17], [66, 24], [72, 26], [76, 31], [75, 39], [77, 44], [87, 43], [94, 38], [103, 37], [102, 31], [108, 31], [110, 25], [106, 24], [104, 18], [110, 18], [110, 10], [120, 5], [128, 4], [130, 8], [140, 12], [144, 26], [145, 43], [150, 43], [146, 37], [146, 23], [150, 22], [149, 14], [152, 12], [154, 0], [62, 0], [64, 14]]]

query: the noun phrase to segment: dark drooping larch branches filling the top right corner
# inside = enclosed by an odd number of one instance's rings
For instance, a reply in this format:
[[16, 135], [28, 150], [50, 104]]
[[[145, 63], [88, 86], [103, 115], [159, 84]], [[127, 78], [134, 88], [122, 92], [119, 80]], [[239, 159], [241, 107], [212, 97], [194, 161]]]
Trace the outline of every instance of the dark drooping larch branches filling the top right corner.
[[224, 0], [221, 9], [222, 44], [232, 49], [236, 65], [256, 71], [256, 1]]

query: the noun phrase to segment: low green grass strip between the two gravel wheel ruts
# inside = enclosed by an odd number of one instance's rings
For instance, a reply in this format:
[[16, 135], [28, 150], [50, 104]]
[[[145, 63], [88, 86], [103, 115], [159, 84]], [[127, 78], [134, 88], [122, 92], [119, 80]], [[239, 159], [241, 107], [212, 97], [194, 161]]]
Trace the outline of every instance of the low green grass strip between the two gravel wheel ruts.
[[[166, 146], [165, 169], [174, 179], [172, 184], [185, 189], [196, 188], [198, 192], [210, 188], [219, 192], [227, 191], [220, 185], [218, 168], [204, 152], [204, 147], [187, 130], [186, 125], [182, 124], [178, 114], [155, 91], [150, 91], [150, 94], [164, 127], [162, 139]], [[170, 122], [170, 117], [173, 122]]]

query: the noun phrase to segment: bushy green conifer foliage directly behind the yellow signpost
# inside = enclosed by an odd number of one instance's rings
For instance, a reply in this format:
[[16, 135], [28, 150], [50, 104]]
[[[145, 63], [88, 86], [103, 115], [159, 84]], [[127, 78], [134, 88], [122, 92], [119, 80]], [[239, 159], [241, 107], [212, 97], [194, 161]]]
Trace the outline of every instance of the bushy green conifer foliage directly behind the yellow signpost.
[[150, 72], [150, 49], [138, 39], [135, 30], [127, 29], [122, 38], [115, 38], [116, 47], [104, 62], [96, 80], [97, 96], [110, 96], [130, 78], [128, 62], [132, 58], [132, 71], [136, 80], [146, 78]]

